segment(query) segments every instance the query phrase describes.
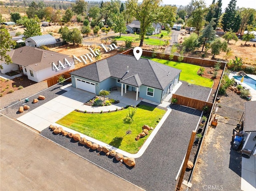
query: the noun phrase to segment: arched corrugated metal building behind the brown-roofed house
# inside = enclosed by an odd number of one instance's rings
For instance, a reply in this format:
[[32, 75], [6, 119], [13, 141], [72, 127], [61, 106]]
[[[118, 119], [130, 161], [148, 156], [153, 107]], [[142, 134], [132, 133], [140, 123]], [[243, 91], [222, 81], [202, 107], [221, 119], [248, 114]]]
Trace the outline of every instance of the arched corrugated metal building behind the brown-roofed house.
[[29, 37], [25, 40], [25, 43], [26, 46], [40, 47], [48, 44], [55, 44], [56, 39], [50, 34], [45, 34]]

